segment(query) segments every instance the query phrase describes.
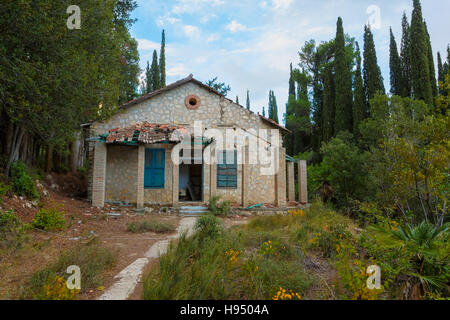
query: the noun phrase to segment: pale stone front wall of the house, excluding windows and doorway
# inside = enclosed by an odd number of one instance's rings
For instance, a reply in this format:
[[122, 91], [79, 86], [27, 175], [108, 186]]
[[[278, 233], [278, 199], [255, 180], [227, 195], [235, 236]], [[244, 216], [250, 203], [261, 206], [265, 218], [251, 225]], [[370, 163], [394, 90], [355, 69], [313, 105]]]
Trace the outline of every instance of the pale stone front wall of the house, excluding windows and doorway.
[[[200, 106], [196, 109], [186, 107], [186, 97], [196, 96]], [[121, 110], [106, 122], [95, 122], [91, 126], [91, 136], [101, 135], [115, 128], [125, 128], [138, 122], [182, 125], [192, 128], [195, 121], [201, 121], [204, 129], [225, 131], [230, 128], [277, 129], [264, 121], [259, 115], [250, 112], [204, 87], [187, 82], [159, 95], [136, 103]], [[270, 141], [270, 136], [264, 141]], [[261, 137], [256, 138], [259, 142]], [[269, 145], [269, 144], [267, 144]], [[281, 145], [281, 134], [280, 134]], [[143, 171], [145, 148], [165, 150], [164, 188], [144, 189]], [[102, 200], [116, 202], [128, 201], [138, 207], [145, 204], [163, 204], [177, 206], [178, 203], [178, 166], [171, 161], [173, 144], [155, 144], [141, 146], [123, 146], [101, 142], [92, 143], [90, 151], [91, 177], [89, 196], [96, 205], [102, 206]], [[226, 146], [232, 149], [232, 145]], [[215, 146], [208, 150], [214, 158]], [[208, 151], [207, 151], [208, 152]], [[248, 146], [246, 154], [248, 155]], [[230, 200], [243, 206], [258, 203], [272, 203], [286, 206], [286, 163], [285, 150], [273, 150], [280, 159], [280, 169], [275, 175], [262, 175], [257, 164], [238, 165], [237, 187], [218, 188], [216, 165], [204, 164], [203, 201], [218, 195], [222, 200]], [[98, 153], [98, 154], [97, 154]], [[103, 161], [103, 162], [102, 162]], [[102, 180], [103, 179], [103, 180]], [[102, 184], [103, 183], [103, 184]], [[103, 194], [101, 189], [103, 187]]]

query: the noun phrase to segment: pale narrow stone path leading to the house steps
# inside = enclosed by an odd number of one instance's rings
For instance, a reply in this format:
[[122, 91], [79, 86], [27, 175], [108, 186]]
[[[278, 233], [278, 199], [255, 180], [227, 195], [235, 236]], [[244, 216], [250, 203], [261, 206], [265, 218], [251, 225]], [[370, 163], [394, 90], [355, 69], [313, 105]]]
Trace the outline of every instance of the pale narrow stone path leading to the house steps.
[[194, 232], [194, 224], [197, 218], [188, 217], [180, 221], [177, 233], [165, 240], [156, 242], [145, 254], [143, 258], [139, 258], [128, 267], [119, 272], [114, 279], [116, 282], [98, 298], [98, 300], [126, 300], [134, 292], [139, 283], [142, 272], [150, 259], [157, 259], [164, 254], [169, 247], [171, 240], [177, 239], [183, 232], [192, 235]]

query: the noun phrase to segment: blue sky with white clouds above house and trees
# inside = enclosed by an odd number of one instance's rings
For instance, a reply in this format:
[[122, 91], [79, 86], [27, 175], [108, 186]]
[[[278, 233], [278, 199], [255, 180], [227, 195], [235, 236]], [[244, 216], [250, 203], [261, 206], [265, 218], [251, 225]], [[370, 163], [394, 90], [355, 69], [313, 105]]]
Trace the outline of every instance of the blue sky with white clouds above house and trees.
[[[400, 46], [401, 18], [411, 19], [412, 0], [138, 0], [137, 22], [131, 35], [139, 44], [144, 70], [153, 50], [160, 50], [166, 33], [167, 83], [193, 74], [200, 81], [218, 77], [231, 86], [228, 98], [239, 96], [262, 113], [275, 92], [279, 119], [288, 99], [289, 64], [299, 63], [305, 41], [328, 41], [336, 35], [336, 21], [363, 46], [364, 25], [373, 26], [378, 63], [389, 84], [389, 27]], [[445, 59], [450, 43], [448, 0], [422, 0], [433, 54]]]

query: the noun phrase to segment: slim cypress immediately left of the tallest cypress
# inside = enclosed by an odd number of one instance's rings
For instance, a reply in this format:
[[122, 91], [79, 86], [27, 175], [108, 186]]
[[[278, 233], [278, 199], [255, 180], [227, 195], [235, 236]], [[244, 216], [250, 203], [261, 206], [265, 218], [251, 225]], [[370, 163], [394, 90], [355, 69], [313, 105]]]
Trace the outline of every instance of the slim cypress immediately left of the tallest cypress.
[[402, 44], [400, 49], [402, 63], [402, 85], [401, 96], [411, 98], [412, 76], [411, 76], [411, 33], [408, 18], [403, 13], [402, 19]]

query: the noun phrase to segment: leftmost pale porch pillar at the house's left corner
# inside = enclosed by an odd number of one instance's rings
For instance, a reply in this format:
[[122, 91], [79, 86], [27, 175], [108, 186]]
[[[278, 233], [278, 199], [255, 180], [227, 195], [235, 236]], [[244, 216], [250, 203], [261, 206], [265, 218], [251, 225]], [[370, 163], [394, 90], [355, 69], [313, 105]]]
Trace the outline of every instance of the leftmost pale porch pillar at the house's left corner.
[[97, 141], [92, 172], [92, 206], [99, 208], [105, 205], [106, 154], [106, 143]]

